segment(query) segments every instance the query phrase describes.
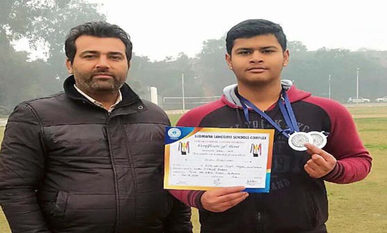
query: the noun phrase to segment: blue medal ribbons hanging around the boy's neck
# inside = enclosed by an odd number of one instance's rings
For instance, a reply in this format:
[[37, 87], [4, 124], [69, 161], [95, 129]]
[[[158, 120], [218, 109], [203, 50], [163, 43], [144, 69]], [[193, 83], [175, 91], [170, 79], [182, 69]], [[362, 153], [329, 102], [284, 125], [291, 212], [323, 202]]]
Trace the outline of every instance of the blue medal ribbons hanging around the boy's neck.
[[294, 112], [293, 112], [292, 106], [290, 105], [290, 101], [288, 99], [288, 96], [286, 95], [286, 91], [282, 90], [281, 94], [285, 100], [285, 106], [282, 103], [281, 98], [278, 99], [277, 104], [279, 106], [279, 109], [281, 110], [282, 116], [284, 117], [286, 125], [288, 127], [286, 129], [282, 129], [281, 126], [279, 126], [277, 123], [275, 123], [275, 121], [273, 119], [271, 119], [271, 117], [269, 117], [267, 114], [262, 112], [253, 103], [251, 103], [249, 100], [247, 100], [243, 96], [238, 94], [238, 98], [242, 102], [243, 112], [244, 112], [246, 120], [248, 122], [250, 122], [250, 119], [249, 119], [249, 110], [248, 110], [247, 106], [251, 107], [261, 117], [265, 118], [271, 125], [273, 125], [285, 137], [289, 138], [289, 134], [291, 134], [295, 131], [298, 132], [298, 131], [300, 131], [300, 129], [298, 127], [296, 117], [294, 116]]

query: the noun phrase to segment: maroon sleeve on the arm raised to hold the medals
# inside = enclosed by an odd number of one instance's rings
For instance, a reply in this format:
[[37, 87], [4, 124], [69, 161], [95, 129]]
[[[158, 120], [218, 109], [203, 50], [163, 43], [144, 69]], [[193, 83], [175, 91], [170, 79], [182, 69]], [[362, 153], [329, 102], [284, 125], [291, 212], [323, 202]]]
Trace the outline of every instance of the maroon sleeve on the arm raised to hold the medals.
[[306, 101], [322, 107], [330, 119], [327, 145], [323, 149], [332, 154], [337, 163], [324, 179], [333, 183], [364, 179], [371, 171], [372, 158], [360, 140], [351, 114], [341, 104], [328, 99], [311, 97]]

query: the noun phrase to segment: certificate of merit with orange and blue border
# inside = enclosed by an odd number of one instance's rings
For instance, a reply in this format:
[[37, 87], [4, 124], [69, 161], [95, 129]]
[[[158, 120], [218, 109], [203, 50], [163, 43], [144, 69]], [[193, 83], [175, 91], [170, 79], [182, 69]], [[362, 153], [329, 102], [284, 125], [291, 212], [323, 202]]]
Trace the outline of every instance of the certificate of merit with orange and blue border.
[[164, 188], [269, 192], [274, 129], [166, 127]]

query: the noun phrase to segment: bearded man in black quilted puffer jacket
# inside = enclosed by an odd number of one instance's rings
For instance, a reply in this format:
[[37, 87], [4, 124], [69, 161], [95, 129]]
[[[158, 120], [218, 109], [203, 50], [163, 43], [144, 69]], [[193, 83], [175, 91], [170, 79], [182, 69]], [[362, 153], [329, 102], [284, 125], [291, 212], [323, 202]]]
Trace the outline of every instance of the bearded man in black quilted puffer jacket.
[[131, 50], [117, 25], [79, 25], [65, 92], [16, 106], [0, 151], [12, 232], [192, 232], [191, 210], [163, 189], [168, 117], [125, 83]]

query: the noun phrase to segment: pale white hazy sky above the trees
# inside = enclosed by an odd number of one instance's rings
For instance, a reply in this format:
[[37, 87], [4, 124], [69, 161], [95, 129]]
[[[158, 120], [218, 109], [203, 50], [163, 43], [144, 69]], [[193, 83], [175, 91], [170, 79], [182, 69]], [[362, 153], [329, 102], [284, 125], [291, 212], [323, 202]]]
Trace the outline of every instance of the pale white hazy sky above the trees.
[[133, 52], [161, 60], [194, 57], [208, 39], [219, 39], [252, 18], [279, 23], [289, 41], [321, 47], [387, 50], [383, 0], [88, 0], [103, 3], [110, 23], [124, 28]]

